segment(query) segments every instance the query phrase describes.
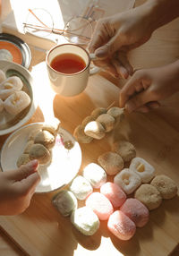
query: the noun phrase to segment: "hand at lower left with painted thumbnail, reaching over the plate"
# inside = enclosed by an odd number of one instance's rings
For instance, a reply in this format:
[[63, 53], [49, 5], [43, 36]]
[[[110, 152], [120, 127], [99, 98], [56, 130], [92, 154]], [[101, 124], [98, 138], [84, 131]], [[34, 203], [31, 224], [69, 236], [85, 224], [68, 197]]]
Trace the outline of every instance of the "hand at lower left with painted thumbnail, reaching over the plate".
[[0, 215], [17, 215], [27, 209], [39, 183], [38, 160], [17, 170], [0, 172]]

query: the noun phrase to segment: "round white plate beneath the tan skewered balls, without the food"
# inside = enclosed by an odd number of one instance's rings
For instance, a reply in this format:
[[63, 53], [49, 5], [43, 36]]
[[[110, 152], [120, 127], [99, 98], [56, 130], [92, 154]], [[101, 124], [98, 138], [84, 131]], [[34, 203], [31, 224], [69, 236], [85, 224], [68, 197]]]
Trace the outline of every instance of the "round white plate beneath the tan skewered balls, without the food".
[[[4, 142], [1, 150], [1, 167], [3, 171], [17, 169], [16, 162], [30, 136], [30, 132], [39, 130], [42, 123], [28, 124], [13, 132]], [[65, 149], [62, 140], [72, 141], [72, 149]], [[52, 149], [52, 161], [47, 165], [40, 165], [38, 173], [41, 177], [36, 192], [52, 192], [70, 183], [81, 167], [81, 147], [70, 132], [59, 128]]]

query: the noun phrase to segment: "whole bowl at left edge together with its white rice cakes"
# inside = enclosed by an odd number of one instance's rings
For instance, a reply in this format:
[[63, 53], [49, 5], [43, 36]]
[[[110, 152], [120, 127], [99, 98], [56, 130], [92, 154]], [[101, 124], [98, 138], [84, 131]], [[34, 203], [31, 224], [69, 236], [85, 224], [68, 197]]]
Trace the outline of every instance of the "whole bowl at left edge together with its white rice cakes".
[[9, 61], [0, 61], [0, 136], [26, 124], [36, 110], [30, 72]]

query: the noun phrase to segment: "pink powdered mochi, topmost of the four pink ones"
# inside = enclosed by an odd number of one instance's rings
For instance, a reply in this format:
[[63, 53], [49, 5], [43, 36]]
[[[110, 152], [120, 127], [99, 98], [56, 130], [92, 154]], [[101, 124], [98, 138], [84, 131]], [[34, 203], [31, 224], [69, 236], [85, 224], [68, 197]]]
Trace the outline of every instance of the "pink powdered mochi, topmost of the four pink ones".
[[104, 194], [107, 199], [112, 203], [114, 208], [122, 206], [126, 200], [126, 194], [124, 191], [115, 183], [104, 183], [100, 187], [100, 192]]

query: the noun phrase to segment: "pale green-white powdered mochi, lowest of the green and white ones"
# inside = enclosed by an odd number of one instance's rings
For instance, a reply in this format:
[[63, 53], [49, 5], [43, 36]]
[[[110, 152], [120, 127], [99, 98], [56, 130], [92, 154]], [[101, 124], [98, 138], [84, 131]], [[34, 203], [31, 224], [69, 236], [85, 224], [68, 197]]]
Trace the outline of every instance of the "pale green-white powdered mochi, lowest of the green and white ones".
[[71, 222], [83, 235], [94, 235], [100, 225], [98, 216], [86, 206], [72, 211]]

